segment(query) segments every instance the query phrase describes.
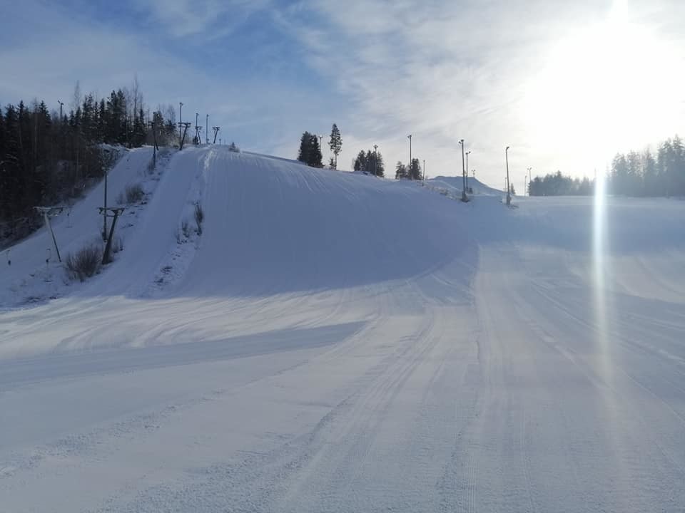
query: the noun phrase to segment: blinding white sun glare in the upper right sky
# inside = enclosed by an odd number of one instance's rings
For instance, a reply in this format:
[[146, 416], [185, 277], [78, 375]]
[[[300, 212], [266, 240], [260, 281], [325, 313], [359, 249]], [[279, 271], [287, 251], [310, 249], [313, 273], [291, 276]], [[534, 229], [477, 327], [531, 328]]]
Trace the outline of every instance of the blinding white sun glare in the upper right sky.
[[614, 1], [604, 21], [550, 49], [522, 116], [540, 146], [558, 150], [582, 138], [585, 155], [604, 162], [676, 125], [684, 76], [668, 43], [626, 1]]

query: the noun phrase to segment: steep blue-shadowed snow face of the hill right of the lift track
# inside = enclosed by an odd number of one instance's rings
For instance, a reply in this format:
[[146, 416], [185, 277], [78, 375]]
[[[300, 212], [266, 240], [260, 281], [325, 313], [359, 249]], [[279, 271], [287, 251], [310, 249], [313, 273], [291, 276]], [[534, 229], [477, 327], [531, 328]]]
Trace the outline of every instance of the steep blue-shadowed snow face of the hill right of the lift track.
[[205, 170], [205, 232], [178, 294], [341, 289], [407, 279], [465, 251], [446, 237], [455, 205], [412, 184], [221, 149]]

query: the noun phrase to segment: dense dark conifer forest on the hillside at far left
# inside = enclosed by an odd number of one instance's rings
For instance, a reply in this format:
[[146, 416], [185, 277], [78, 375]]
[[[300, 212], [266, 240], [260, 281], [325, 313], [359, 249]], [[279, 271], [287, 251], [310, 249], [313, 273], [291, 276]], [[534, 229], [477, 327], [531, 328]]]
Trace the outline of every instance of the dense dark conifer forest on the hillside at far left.
[[146, 113], [137, 81], [99, 100], [82, 97], [77, 84], [68, 112], [50, 112], [37, 100], [0, 109], [0, 239], [31, 233], [40, 224], [34, 207], [65, 202], [102, 177], [111, 152], [101, 144], [151, 142], [149, 121], [156, 122], [158, 142], [176, 140], [173, 108]]

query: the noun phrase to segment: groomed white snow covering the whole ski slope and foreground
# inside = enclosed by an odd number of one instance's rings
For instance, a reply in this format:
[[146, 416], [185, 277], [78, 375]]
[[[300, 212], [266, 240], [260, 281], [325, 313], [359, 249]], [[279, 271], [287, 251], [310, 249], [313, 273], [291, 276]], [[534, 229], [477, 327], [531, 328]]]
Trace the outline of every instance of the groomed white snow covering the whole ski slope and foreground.
[[176, 153], [108, 269], [2, 296], [0, 512], [683, 511], [685, 202], [500, 199]]

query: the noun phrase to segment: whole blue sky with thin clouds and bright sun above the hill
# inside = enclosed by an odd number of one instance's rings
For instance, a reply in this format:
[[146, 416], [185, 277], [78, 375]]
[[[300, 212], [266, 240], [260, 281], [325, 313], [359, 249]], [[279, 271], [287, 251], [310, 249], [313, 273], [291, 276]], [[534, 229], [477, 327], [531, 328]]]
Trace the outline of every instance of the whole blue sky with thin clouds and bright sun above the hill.
[[[56, 107], [137, 76], [241, 147], [294, 157], [342, 131], [340, 167], [379, 145], [429, 175], [499, 187], [527, 167], [603, 170], [683, 130], [685, 3], [676, 0], [2, 0], [0, 102]], [[328, 150], [325, 150], [328, 156]]]

